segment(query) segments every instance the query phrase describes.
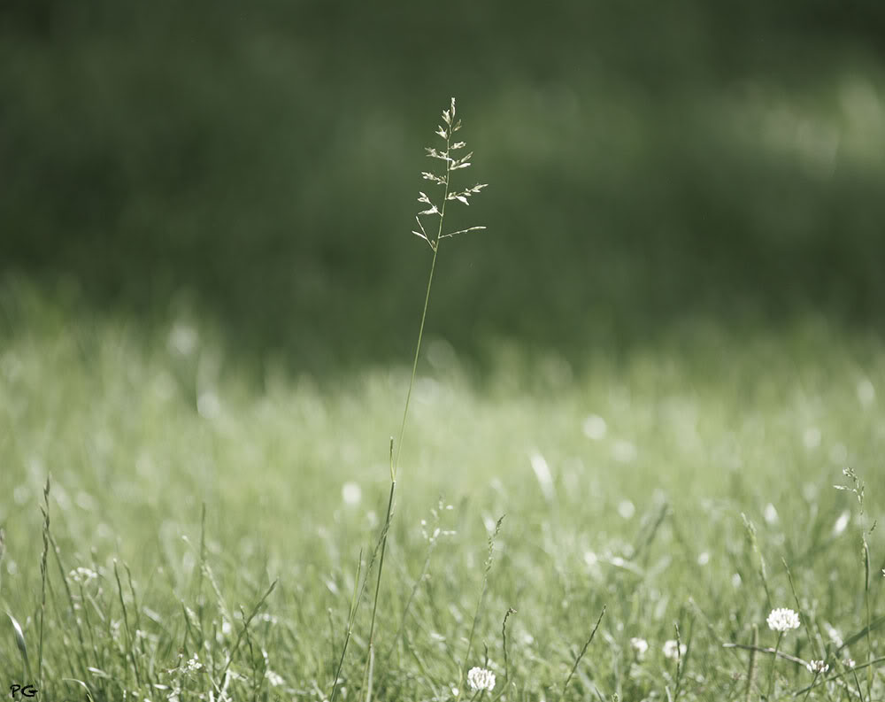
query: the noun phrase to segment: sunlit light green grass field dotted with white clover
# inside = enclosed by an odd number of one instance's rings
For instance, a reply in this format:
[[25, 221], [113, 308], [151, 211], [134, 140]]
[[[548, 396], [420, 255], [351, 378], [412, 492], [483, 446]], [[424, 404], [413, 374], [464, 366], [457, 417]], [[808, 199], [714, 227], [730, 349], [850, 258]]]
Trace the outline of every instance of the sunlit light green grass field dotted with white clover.
[[[409, 350], [294, 374], [229, 353], [195, 311], [144, 324], [60, 297], [13, 278], [0, 291], [0, 598], [30, 667], [0, 621], [0, 683], [27, 679], [47, 700], [327, 699], [361, 562], [336, 694], [364, 699]], [[882, 629], [853, 638], [868, 621], [861, 533], [885, 505], [879, 338], [813, 315], [698, 320], [647, 348], [590, 350], [580, 371], [492, 343], [479, 372], [432, 327], [431, 306], [373, 698], [454, 699], [459, 684], [471, 698], [461, 675], [484, 666], [485, 699], [743, 699], [751, 654], [722, 644], [758, 627], [773, 646], [766, 616], [781, 606], [802, 622], [781, 651], [826, 659], [825, 677], [885, 655]], [[866, 481], [863, 514], [833, 488], [844, 467]], [[876, 625], [881, 529], [868, 542]], [[678, 665], [662, 652], [676, 626]], [[756, 657], [747, 698], [767, 690], [771, 660]], [[864, 668], [808, 698], [881, 699], [879, 666], [871, 692]], [[814, 680], [780, 660], [773, 698]]]

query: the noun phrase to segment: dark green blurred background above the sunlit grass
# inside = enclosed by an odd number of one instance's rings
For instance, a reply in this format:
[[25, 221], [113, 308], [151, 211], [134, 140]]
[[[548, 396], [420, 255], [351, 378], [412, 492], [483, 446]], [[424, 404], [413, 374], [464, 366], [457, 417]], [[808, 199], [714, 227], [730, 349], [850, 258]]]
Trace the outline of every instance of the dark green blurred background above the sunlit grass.
[[0, 276], [296, 368], [404, 362], [454, 95], [489, 230], [443, 250], [431, 328], [480, 365], [881, 328], [883, 35], [873, 0], [5, 0]]

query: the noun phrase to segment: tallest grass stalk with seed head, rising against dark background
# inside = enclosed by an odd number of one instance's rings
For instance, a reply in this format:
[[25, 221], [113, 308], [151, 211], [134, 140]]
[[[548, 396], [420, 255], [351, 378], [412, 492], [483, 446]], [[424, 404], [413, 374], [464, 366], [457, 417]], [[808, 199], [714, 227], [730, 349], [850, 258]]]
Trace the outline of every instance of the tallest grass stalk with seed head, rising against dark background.
[[[415, 356], [412, 360], [412, 377], [409, 381], [409, 390], [405, 395], [405, 405], [403, 409], [403, 420], [400, 422], [399, 428], [399, 442], [396, 444], [396, 451], [394, 451], [393, 440], [390, 442], [390, 495], [388, 498], [388, 508], [387, 508], [387, 516], [384, 520], [384, 526], [381, 536], [381, 559], [378, 562], [378, 575], [375, 581], [375, 594], [373, 598], [373, 606], [372, 606], [372, 620], [369, 624], [369, 644], [368, 644], [368, 658], [366, 660], [366, 702], [371, 702], [372, 699], [372, 684], [373, 684], [373, 672], [374, 672], [374, 632], [375, 632], [375, 619], [378, 613], [378, 596], [381, 592], [381, 574], [384, 568], [384, 553], [387, 550], [387, 537], [389, 534], [390, 521], [393, 516], [393, 500], [394, 495], [396, 493], [396, 470], [399, 467], [399, 458], [403, 451], [403, 442], [405, 436], [405, 424], [409, 415], [409, 404], [412, 400], [412, 390], [415, 386], [415, 376], [418, 373], [418, 359], [421, 354], [421, 342], [424, 339], [424, 327], [427, 322], [427, 308], [430, 306], [430, 291], [433, 289], [434, 284], [434, 274], [436, 271], [436, 258], [439, 256], [440, 243], [446, 237], [464, 234], [469, 231], [476, 231], [479, 229], [484, 229], [485, 227], [470, 227], [466, 229], [460, 229], [458, 231], [452, 232], [443, 232], [443, 223], [445, 221], [445, 210], [446, 204], [450, 200], [458, 200], [463, 204], [470, 204], [469, 199], [473, 195], [476, 195], [481, 191], [481, 189], [486, 187], [486, 184], [477, 183], [472, 188], [464, 189], [461, 191], [457, 191], [452, 189], [451, 187], [451, 174], [453, 171], [458, 171], [463, 168], [469, 167], [470, 158], [473, 156], [473, 152], [468, 152], [466, 156], [462, 156], [460, 158], [455, 158], [452, 153], [464, 149], [466, 147], [466, 143], [464, 142], [456, 142], [452, 143], [452, 137], [461, 128], [461, 120], [455, 119], [455, 98], [451, 98], [450, 108], [448, 110], [443, 110], [443, 124], [439, 125], [436, 129], [436, 134], [440, 135], [445, 140], [445, 148], [444, 150], [438, 150], [435, 147], [427, 147], [427, 158], [435, 158], [437, 160], [443, 161], [445, 165], [445, 170], [443, 174], [435, 174], [433, 172], [423, 172], [421, 175], [426, 181], [431, 181], [435, 183], [437, 186], [443, 187], [443, 199], [439, 201], [439, 204], [435, 204], [431, 197], [428, 197], [425, 193], [419, 192], [418, 201], [421, 204], [426, 204], [427, 208], [422, 210], [415, 216], [415, 220], [418, 222], [419, 231], [412, 231], [412, 234], [419, 236], [424, 239], [427, 244], [430, 246], [431, 250], [434, 252], [433, 259], [430, 262], [430, 274], [427, 276], [427, 292], [424, 296], [424, 307], [421, 311], [421, 323], [418, 328], [418, 343], [415, 344]], [[431, 238], [427, 235], [427, 230], [424, 228], [424, 225], [421, 223], [420, 218], [422, 216], [425, 217], [438, 217], [439, 222], [436, 228], [435, 237]], [[431, 231], [433, 228], [431, 228]]]

